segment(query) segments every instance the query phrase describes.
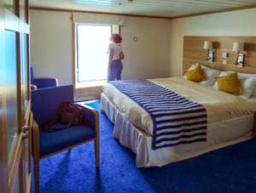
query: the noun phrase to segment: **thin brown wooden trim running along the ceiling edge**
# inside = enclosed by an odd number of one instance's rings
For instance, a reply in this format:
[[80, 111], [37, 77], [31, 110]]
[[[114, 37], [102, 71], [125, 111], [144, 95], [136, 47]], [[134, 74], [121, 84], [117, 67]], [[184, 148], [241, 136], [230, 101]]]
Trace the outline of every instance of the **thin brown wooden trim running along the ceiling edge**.
[[254, 9], [254, 8], [256, 8], [256, 4], [229, 8], [229, 9], [220, 9], [216, 11], [208, 11], [208, 12], [197, 13], [197, 14], [182, 14], [178, 16], [159, 16], [159, 15], [149, 15], [149, 14], [125, 14], [125, 13], [119, 14], [119, 13], [113, 13], [113, 12], [87, 11], [87, 10], [79, 10], [79, 9], [57, 9], [57, 8], [47, 8], [47, 7], [38, 7], [38, 6], [31, 6], [29, 9], [42, 10], [42, 11], [69, 12], [69, 13], [77, 12], [77, 13], [85, 13], [85, 14], [113, 14], [113, 15], [129, 16], [129, 17], [174, 20], [174, 19], [180, 19], [180, 18], [195, 17], [195, 16], [200, 16], [205, 14], [219, 14], [219, 13], [239, 11], [243, 9]]

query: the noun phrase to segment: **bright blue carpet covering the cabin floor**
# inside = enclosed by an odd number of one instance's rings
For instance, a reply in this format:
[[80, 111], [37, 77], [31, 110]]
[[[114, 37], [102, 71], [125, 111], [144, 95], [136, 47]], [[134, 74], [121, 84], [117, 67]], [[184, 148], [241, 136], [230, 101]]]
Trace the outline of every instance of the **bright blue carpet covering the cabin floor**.
[[[90, 103], [99, 109], [99, 103]], [[165, 167], [137, 168], [135, 156], [113, 139], [100, 113], [101, 167], [89, 143], [40, 162], [41, 192], [256, 192], [256, 141], [249, 140]]]

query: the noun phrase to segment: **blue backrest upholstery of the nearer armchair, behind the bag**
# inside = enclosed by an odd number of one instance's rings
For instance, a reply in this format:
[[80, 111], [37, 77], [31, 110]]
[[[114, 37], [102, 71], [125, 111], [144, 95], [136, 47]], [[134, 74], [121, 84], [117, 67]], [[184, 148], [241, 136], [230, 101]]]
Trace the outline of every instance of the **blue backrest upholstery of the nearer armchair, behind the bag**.
[[73, 85], [32, 90], [32, 112], [39, 128], [51, 121], [63, 101], [73, 102]]

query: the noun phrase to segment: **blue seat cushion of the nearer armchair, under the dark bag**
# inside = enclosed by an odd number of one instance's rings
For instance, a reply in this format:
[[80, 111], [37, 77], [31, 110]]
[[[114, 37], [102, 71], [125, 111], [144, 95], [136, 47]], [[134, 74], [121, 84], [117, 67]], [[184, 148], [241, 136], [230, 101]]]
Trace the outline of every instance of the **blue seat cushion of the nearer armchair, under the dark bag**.
[[84, 125], [72, 126], [58, 131], [40, 131], [40, 156], [62, 150], [96, 137], [96, 131]]

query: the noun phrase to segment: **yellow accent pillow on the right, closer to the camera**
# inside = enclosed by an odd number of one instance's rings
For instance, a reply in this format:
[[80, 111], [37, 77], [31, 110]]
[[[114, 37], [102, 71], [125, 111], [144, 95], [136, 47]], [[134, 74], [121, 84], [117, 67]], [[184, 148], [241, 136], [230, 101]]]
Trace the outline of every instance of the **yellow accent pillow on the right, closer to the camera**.
[[218, 82], [218, 90], [236, 95], [242, 93], [241, 82], [237, 77], [237, 73], [232, 73], [224, 77], [217, 77], [216, 81]]

